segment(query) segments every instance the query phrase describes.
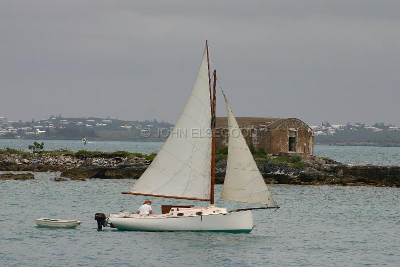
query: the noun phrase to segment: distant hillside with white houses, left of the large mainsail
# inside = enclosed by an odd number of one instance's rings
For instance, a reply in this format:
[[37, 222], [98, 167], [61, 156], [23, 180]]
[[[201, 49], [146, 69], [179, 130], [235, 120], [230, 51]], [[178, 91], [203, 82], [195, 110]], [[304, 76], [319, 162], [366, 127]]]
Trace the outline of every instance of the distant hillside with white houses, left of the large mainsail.
[[[61, 118], [29, 122], [9, 122], [0, 125], [0, 138], [59, 139], [109, 141], [165, 141], [157, 133], [173, 127], [173, 124], [154, 120], [126, 121], [102, 118]], [[149, 134], [151, 133], [151, 134]]]

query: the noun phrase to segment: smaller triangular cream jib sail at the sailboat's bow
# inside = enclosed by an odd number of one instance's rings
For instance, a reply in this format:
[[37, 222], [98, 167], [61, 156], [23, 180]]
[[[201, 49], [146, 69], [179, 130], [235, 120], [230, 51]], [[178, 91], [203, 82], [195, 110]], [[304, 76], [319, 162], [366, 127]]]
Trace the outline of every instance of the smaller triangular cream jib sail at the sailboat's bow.
[[228, 115], [228, 159], [221, 198], [277, 206], [251, 155], [244, 137], [223, 96]]

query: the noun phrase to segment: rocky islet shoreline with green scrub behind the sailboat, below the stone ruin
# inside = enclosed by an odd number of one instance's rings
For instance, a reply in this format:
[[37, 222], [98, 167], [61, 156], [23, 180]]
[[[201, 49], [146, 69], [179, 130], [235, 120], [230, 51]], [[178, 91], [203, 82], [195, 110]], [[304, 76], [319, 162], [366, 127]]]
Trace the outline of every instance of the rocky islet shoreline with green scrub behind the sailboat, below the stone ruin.
[[[150, 162], [145, 158], [123, 157], [119, 154], [57, 156], [33, 154], [27, 158], [6, 155], [0, 158], [0, 171], [60, 171], [61, 177], [71, 180], [139, 178]], [[276, 162], [256, 158], [256, 162], [265, 182], [269, 184], [400, 187], [398, 166], [344, 165], [311, 155], [303, 160], [301, 168], [296, 168], [290, 161]], [[216, 183], [223, 183], [225, 168], [226, 159], [215, 165]], [[0, 179], [12, 178], [0, 176]]]

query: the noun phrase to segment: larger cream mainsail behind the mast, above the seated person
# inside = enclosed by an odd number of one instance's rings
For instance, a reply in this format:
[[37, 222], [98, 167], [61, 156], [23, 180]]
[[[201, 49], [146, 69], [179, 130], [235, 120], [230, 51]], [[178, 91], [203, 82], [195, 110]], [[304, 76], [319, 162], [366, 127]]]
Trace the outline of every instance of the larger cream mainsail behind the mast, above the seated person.
[[161, 150], [130, 193], [209, 199], [211, 110], [204, 49], [193, 88]]

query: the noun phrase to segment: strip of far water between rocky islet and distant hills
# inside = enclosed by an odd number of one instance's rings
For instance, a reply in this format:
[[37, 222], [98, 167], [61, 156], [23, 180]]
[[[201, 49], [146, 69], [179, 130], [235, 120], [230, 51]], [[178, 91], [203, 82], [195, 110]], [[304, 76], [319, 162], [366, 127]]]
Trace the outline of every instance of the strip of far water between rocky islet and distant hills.
[[[0, 147], [12, 147], [28, 151], [28, 145], [34, 140], [0, 139]], [[161, 149], [160, 142], [129, 142], [129, 141], [88, 141], [84, 145], [80, 141], [44, 140], [45, 150], [68, 149], [76, 152], [81, 149], [153, 153]], [[344, 164], [374, 164], [400, 166], [400, 147], [366, 147], [366, 146], [314, 146], [314, 154], [327, 157]]]

